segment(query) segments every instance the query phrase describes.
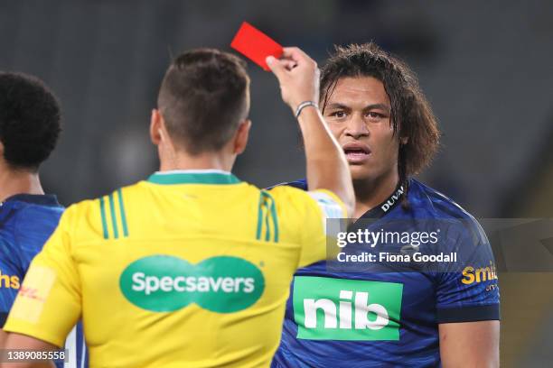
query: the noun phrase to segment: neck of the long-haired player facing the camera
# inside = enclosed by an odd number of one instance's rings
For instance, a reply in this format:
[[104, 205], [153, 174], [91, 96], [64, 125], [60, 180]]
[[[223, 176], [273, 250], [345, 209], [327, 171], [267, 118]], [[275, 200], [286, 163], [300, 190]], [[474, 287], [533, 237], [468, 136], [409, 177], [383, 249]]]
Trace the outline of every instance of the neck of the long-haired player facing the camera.
[[388, 175], [377, 179], [353, 180], [353, 189], [355, 189], [354, 218], [361, 217], [365, 212], [389, 198], [398, 187], [398, 181], [398, 170], [393, 170]]

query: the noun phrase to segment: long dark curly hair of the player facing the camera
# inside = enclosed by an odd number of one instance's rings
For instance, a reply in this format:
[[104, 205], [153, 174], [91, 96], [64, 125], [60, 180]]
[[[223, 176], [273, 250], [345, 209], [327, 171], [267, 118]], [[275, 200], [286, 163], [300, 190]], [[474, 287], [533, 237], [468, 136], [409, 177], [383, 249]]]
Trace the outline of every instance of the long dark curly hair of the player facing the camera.
[[407, 190], [408, 177], [430, 163], [440, 138], [436, 117], [418, 87], [417, 77], [403, 61], [373, 42], [335, 46], [321, 69], [323, 111], [338, 80], [347, 77], [373, 77], [384, 85], [391, 103], [394, 133], [408, 137], [408, 143], [399, 144], [398, 152], [399, 180]]

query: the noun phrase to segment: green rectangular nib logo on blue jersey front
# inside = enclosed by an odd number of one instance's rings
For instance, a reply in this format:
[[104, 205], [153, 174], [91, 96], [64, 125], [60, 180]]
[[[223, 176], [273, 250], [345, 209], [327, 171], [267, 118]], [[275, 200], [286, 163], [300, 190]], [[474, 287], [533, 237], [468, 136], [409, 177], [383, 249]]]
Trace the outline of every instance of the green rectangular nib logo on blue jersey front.
[[400, 283], [296, 276], [297, 337], [397, 341], [402, 293]]

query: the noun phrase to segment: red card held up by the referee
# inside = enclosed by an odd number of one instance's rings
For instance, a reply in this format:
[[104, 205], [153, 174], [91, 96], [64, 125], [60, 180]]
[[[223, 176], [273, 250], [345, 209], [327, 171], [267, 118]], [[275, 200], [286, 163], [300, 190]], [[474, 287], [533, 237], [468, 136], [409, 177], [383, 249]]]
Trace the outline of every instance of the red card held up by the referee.
[[278, 59], [283, 52], [282, 46], [247, 22], [242, 23], [239, 32], [230, 43], [230, 47], [241, 52], [267, 71], [270, 70], [265, 62], [267, 56], [272, 55]]

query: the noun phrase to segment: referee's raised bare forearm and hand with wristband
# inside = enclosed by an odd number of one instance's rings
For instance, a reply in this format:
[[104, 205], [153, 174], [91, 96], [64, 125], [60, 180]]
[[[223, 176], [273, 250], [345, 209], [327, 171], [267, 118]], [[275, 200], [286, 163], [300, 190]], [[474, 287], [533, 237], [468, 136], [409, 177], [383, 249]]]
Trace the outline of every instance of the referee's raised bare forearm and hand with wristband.
[[[285, 48], [283, 59], [267, 58], [267, 65], [277, 76], [282, 98], [295, 112], [305, 101], [319, 103], [319, 69], [298, 48]], [[352, 213], [355, 197], [351, 174], [340, 145], [314, 106], [305, 107], [298, 117], [304, 138], [309, 190], [331, 190]]]

